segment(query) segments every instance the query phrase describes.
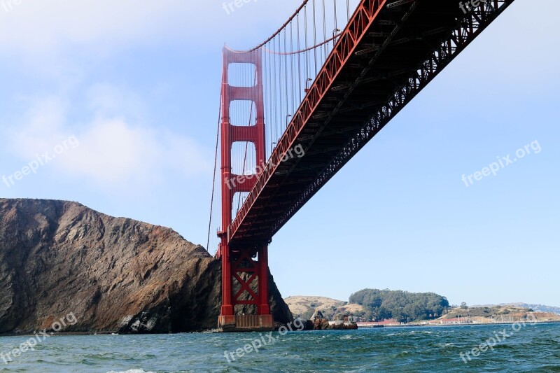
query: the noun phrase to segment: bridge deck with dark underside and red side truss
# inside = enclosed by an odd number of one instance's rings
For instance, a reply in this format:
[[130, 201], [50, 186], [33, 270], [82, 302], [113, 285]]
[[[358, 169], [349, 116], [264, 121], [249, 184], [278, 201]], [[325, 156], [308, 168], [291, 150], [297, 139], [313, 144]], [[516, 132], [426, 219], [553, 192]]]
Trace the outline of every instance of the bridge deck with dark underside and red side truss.
[[[362, 1], [230, 226], [230, 246], [268, 241], [512, 2], [465, 15], [457, 1]], [[279, 162], [299, 144], [303, 157]]]

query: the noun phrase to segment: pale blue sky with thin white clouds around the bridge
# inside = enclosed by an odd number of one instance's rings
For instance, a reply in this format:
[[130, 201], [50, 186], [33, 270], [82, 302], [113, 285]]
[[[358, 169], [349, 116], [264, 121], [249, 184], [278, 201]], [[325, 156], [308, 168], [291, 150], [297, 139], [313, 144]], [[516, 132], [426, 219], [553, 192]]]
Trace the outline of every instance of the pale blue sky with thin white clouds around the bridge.
[[[299, 4], [0, 0], [0, 197], [206, 246], [222, 47], [257, 45]], [[513, 3], [276, 234], [284, 297], [560, 306], [559, 13]]]

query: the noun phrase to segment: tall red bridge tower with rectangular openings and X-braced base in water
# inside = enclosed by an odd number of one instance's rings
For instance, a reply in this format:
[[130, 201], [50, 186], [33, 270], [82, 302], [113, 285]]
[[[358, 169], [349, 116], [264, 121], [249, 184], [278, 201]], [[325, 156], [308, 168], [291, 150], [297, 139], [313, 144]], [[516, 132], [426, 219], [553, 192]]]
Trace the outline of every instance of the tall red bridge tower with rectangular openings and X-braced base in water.
[[[255, 67], [254, 85], [237, 87], [230, 85], [230, 66], [249, 64]], [[254, 125], [232, 125], [230, 122], [232, 101], [252, 101], [255, 108]], [[253, 143], [256, 162], [265, 162], [265, 107], [262, 85], [262, 54], [260, 50], [235, 52], [223, 49], [222, 72], [222, 119], [221, 119], [221, 174], [222, 174], [222, 227], [218, 232], [221, 243], [218, 258], [222, 260], [222, 307], [218, 318], [218, 330], [272, 330], [274, 321], [268, 302], [268, 243], [248, 246], [230, 245], [233, 198], [236, 192], [250, 192], [258, 174], [240, 177], [232, 173], [232, 146], [238, 141]], [[234, 113], [235, 114], [235, 113]], [[259, 170], [260, 167], [257, 167]], [[239, 176], [239, 177], [238, 177]], [[258, 260], [255, 260], [258, 258]], [[257, 283], [257, 288], [251, 286]], [[256, 290], [256, 291], [255, 291]], [[236, 315], [236, 305], [253, 304], [256, 315]]]

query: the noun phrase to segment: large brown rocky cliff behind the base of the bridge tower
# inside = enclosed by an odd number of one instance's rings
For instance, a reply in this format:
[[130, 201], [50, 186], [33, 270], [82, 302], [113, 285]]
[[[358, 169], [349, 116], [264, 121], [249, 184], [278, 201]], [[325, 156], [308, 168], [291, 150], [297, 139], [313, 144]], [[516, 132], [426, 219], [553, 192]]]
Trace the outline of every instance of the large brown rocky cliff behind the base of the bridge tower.
[[[292, 315], [269, 279], [274, 320]], [[0, 333], [216, 328], [221, 262], [165, 227], [75, 202], [0, 199]]]

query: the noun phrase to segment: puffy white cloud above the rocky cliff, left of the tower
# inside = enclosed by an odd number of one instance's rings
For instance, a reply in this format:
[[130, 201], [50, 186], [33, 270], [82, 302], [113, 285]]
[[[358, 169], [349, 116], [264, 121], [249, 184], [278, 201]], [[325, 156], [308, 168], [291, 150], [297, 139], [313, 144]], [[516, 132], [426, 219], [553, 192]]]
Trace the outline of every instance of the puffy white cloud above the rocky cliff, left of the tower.
[[107, 84], [95, 85], [87, 97], [89, 118], [80, 125], [69, 123], [70, 105], [59, 97], [29, 100], [25, 122], [8, 131], [12, 153], [33, 160], [76, 136], [79, 146], [69, 147], [52, 168], [107, 189], [160, 185], [169, 171], [186, 177], [211, 172], [205, 150], [192, 139], [114, 114], [139, 106], [135, 99]]

